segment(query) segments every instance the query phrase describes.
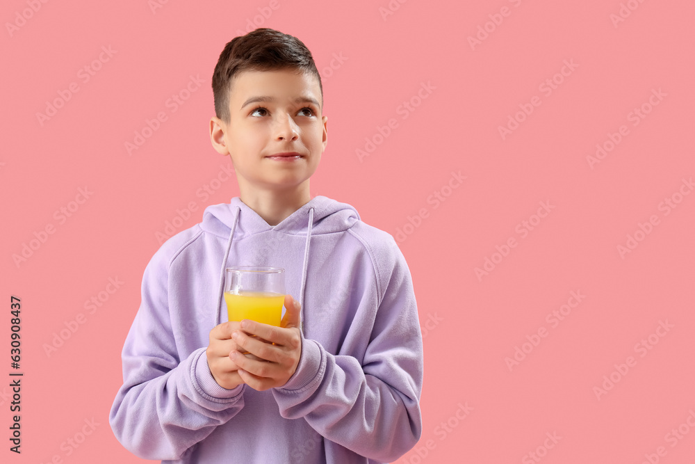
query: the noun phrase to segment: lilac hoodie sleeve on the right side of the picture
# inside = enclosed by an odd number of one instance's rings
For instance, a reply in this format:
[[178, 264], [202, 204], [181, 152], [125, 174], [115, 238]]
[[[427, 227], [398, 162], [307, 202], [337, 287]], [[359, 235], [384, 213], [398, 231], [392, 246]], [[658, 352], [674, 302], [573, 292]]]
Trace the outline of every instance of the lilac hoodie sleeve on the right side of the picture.
[[[302, 339], [297, 371], [273, 391], [283, 417], [303, 417], [327, 440], [382, 462], [400, 458], [422, 433], [423, 341], [414, 289], [390, 236], [388, 243], [370, 250], [375, 295], [365, 295], [359, 303], [376, 304], [375, 317], [356, 317], [350, 327], [350, 333], [368, 339], [363, 361], [333, 355], [318, 342]], [[357, 314], [361, 312], [370, 311], [360, 307]]]

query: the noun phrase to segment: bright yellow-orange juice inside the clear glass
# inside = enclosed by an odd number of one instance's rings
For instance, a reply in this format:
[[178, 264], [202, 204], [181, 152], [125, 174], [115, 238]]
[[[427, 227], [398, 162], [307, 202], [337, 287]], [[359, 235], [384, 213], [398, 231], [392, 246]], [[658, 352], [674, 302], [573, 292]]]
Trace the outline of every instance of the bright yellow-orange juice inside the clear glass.
[[280, 326], [284, 295], [264, 291], [243, 291], [237, 295], [225, 291], [224, 301], [227, 302], [230, 321], [251, 319], [271, 326]]

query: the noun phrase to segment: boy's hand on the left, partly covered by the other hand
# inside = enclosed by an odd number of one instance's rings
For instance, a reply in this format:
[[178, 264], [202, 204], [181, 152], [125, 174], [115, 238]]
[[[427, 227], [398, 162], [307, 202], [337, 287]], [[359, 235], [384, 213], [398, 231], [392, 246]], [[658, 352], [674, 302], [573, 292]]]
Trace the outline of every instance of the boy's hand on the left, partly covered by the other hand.
[[[215, 382], [222, 388], [231, 390], [244, 383], [239, 376], [238, 366], [229, 355], [236, 353], [237, 345], [231, 334], [240, 328], [239, 322], [223, 322], [210, 331], [210, 344], [205, 354], [208, 358], [208, 367], [215, 378]], [[243, 358], [243, 356], [242, 356]]]

